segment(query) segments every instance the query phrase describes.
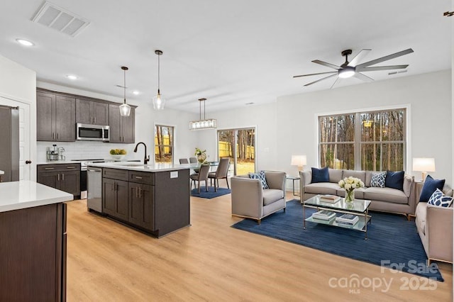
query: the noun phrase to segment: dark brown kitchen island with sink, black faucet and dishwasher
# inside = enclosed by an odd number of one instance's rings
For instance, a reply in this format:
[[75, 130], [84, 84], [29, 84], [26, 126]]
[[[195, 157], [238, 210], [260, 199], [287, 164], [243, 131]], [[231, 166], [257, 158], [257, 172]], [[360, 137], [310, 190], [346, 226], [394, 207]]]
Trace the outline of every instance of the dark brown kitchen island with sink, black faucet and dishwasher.
[[[100, 170], [101, 179], [91, 179], [92, 168]], [[89, 164], [88, 170], [89, 210], [101, 209], [103, 216], [156, 237], [190, 225], [189, 167], [111, 162]]]

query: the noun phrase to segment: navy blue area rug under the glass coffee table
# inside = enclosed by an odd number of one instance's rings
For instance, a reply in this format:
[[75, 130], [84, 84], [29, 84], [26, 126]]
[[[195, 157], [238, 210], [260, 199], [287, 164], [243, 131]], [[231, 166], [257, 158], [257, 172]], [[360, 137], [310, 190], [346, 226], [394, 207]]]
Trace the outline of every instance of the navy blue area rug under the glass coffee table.
[[[306, 208], [306, 218], [315, 210]], [[426, 252], [416, 231], [414, 220], [402, 215], [370, 212], [371, 224], [365, 233], [331, 225], [306, 222], [303, 229], [303, 209], [299, 200], [287, 202], [287, 210], [262, 219], [244, 219], [232, 228], [304, 245], [323, 252], [399, 269], [402, 272], [443, 281], [436, 263], [426, 266]]]

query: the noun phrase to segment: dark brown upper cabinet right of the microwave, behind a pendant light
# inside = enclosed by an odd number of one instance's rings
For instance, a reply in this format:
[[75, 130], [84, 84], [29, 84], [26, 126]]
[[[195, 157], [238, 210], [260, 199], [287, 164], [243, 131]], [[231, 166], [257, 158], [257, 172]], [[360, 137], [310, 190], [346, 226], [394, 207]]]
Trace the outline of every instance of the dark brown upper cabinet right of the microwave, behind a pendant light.
[[109, 105], [109, 142], [123, 142], [132, 144], [135, 142], [135, 109], [131, 107], [129, 116], [120, 116], [118, 105]]

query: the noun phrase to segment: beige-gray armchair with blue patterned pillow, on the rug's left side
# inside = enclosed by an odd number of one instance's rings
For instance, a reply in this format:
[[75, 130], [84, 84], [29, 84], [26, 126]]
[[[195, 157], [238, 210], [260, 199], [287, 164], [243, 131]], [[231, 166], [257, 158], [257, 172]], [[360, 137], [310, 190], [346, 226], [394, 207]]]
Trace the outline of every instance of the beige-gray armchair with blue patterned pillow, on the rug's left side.
[[260, 224], [262, 218], [285, 211], [285, 172], [266, 171], [265, 177], [270, 189], [262, 189], [261, 181], [248, 175], [231, 178], [233, 216], [252, 218]]

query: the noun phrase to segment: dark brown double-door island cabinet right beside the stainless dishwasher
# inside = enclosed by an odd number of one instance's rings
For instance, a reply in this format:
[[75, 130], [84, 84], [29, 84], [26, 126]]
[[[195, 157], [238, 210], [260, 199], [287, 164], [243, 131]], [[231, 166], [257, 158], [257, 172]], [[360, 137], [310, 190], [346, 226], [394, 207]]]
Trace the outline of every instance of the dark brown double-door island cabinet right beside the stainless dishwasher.
[[102, 179], [103, 213], [128, 221], [128, 181]]

